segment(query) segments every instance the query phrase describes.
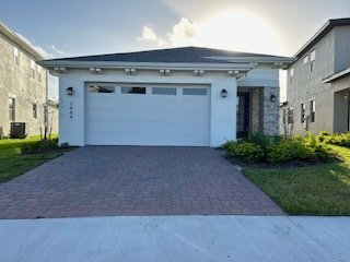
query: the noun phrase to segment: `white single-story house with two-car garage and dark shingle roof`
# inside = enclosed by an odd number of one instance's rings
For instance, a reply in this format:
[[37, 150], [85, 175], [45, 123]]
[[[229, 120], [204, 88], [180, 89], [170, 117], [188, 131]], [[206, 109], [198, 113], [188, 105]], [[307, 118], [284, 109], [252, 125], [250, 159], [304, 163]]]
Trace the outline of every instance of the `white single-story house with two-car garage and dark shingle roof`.
[[290, 62], [180, 47], [39, 64], [59, 76], [60, 143], [220, 146], [279, 132], [279, 69]]

